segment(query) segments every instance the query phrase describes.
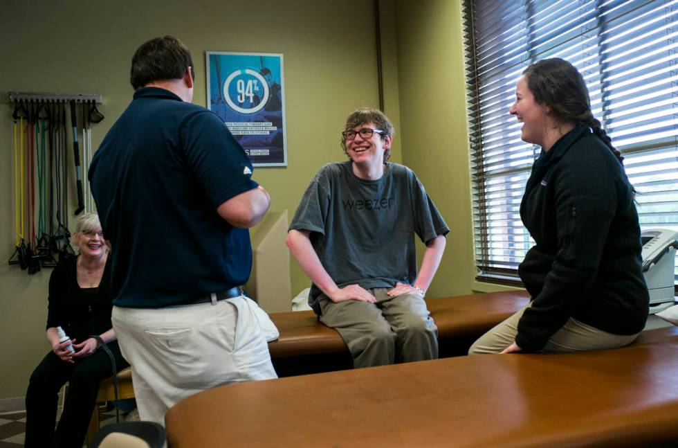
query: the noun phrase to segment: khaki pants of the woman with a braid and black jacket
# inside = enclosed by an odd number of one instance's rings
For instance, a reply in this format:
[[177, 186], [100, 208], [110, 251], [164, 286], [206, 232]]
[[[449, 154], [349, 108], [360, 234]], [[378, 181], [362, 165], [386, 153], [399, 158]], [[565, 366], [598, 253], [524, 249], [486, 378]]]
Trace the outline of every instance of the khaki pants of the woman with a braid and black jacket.
[[[491, 353], [500, 353], [515, 341], [515, 335], [518, 332], [518, 321], [523, 312], [531, 303], [522, 307], [522, 309], [506, 321], [498, 324], [492, 330], [486, 332], [468, 349], [469, 355], [487, 355]], [[611, 319], [614, 319], [610, 316]], [[630, 336], [624, 334], [612, 334], [598, 330], [591, 325], [586, 325], [580, 321], [570, 318], [562, 328], [555, 332], [544, 346], [542, 351], [551, 353], [578, 352], [585, 350], [605, 350], [608, 348], [619, 348], [632, 343], [638, 334]]]

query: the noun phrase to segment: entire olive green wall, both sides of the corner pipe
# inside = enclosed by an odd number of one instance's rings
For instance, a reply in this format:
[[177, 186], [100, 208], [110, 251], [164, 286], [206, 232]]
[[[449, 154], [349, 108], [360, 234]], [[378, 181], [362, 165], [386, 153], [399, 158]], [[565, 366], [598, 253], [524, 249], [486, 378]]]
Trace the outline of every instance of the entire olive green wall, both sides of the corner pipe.
[[[452, 228], [430, 296], [465, 294], [474, 286], [459, 5], [381, 0], [380, 10], [385, 112], [397, 130], [392, 161], [415, 170]], [[131, 99], [129, 62], [141, 42], [172, 34], [187, 44], [201, 105], [205, 51], [284, 53], [288, 168], [257, 168], [254, 177], [271, 192], [272, 210], [292, 214], [320, 165], [344, 158], [338, 142], [347, 114], [378, 107], [373, 12], [367, 0], [6, 0], [0, 94], [102, 93], [97, 147]], [[11, 111], [6, 106], [0, 120], [4, 259], [13, 250]], [[0, 366], [0, 411], [20, 407], [30, 371], [48, 350], [48, 275], [0, 264], [0, 350], [10, 354]], [[309, 285], [295, 262], [291, 279], [293, 294]]]

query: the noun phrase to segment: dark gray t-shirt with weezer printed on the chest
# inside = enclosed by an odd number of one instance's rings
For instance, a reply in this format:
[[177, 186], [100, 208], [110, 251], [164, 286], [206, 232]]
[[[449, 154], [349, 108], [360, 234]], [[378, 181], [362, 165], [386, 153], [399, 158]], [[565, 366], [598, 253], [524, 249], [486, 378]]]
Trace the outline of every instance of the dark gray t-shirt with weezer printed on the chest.
[[[311, 232], [313, 249], [338, 287], [414, 283], [414, 234], [423, 242], [450, 228], [414, 172], [387, 162], [381, 179], [356, 177], [351, 161], [324, 165], [306, 188], [290, 230]], [[311, 286], [309, 305], [322, 292]]]

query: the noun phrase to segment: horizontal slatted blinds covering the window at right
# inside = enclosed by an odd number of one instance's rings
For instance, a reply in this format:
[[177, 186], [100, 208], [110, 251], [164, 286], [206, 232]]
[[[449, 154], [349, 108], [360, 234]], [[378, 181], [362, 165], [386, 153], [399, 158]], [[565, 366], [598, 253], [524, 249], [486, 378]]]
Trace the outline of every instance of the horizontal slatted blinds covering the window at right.
[[625, 156], [643, 229], [678, 230], [678, 0], [465, 0], [468, 125], [479, 277], [511, 280], [531, 247], [520, 199], [540, 148], [508, 114], [522, 71], [562, 57]]

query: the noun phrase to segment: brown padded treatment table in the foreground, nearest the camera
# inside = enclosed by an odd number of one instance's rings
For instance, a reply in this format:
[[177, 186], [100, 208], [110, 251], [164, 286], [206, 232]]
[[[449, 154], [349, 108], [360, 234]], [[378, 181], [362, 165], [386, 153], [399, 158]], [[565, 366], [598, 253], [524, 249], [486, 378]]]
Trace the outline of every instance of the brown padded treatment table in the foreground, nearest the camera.
[[678, 329], [604, 352], [221, 386], [176, 404], [165, 422], [172, 448], [645, 445], [678, 438]]

